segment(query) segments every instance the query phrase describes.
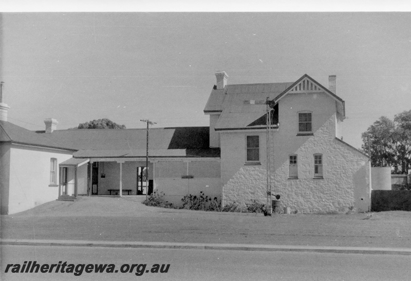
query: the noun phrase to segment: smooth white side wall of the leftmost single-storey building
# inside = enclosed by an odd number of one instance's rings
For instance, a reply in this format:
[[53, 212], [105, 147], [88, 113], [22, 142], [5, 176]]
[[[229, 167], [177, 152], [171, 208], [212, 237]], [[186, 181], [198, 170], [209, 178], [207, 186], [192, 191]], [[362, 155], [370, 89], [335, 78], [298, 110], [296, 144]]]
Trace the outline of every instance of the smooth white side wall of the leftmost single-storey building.
[[[9, 146], [8, 214], [22, 212], [58, 198], [59, 169], [57, 185], [50, 185], [50, 158], [61, 163], [72, 157], [72, 152], [33, 146]], [[3, 188], [3, 186], [2, 186]], [[3, 199], [2, 199], [3, 200]]]

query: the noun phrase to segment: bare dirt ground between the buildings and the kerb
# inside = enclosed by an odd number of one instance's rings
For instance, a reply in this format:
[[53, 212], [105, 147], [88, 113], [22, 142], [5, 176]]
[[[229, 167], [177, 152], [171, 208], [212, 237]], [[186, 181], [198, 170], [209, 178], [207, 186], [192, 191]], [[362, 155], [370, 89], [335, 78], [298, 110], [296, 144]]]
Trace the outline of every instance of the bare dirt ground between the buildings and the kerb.
[[1, 216], [1, 238], [411, 248], [411, 212], [215, 213], [147, 207], [136, 197], [80, 197]]

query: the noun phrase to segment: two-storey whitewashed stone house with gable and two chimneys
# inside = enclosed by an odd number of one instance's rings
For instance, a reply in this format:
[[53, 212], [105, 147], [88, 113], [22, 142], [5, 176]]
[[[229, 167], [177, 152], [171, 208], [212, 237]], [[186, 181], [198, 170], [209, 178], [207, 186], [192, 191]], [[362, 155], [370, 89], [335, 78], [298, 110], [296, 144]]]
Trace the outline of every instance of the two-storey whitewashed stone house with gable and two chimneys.
[[[265, 202], [269, 158], [271, 190], [291, 210], [368, 211], [370, 164], [342, 141], [345, 103], [336, 95], [337, 77], [329, 77], [328, 89], [307, 74], [288, 83], [229, 85], [224, 71], [216, 78], [204, 113], [210, 147], [221, 149], [223, 204]], [[266, 100], [273, 107], [271, 145]]]

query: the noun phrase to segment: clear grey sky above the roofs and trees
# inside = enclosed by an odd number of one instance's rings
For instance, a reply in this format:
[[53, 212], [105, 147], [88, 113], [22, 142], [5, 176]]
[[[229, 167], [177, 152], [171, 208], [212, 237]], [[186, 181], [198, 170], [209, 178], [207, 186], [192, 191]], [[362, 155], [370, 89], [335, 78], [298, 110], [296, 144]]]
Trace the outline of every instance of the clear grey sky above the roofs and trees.
[[1, 80], [9, 121], [67, 129], [108, 118], [127, 128], [208, 126], [215, 71], [229, 84], [325, 87], [337, 75], [344, 141], [411, 109], [411, 13], [3, 13]]

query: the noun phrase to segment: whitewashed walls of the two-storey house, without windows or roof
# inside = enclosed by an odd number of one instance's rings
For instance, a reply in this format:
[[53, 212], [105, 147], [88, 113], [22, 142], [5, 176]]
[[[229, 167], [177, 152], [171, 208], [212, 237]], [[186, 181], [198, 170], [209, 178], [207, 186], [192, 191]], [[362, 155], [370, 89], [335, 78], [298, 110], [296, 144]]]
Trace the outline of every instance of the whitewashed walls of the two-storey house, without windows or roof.
[[[368, 211], [369, 162], [365, 155], [335, 139], [339, 118], [325, 93], [294, 93], [279, 101], [279, 129], [273, 132], [272, 191], [283, 207], [298, 212]], [[296, 136], [298, 112], [312, 111], [313, 136]], [[245, 163], [246, 135], [260, 136], [260, 165]], [[226, 132], [221, 140], [223, 203], [266, 202], [266, 132]], [[314, 154], [323, 154], [324, 178], [314, 179]], [[298, 179], [288, 178], [289, 155], [297, 154]]]

